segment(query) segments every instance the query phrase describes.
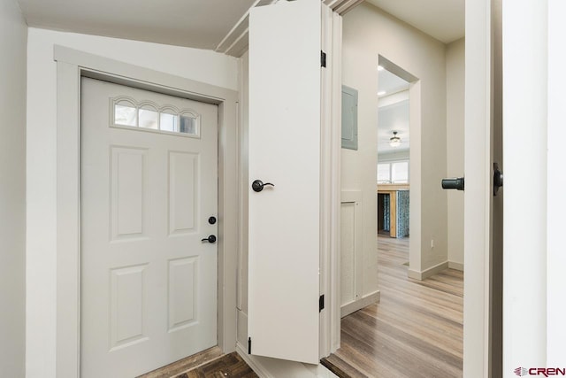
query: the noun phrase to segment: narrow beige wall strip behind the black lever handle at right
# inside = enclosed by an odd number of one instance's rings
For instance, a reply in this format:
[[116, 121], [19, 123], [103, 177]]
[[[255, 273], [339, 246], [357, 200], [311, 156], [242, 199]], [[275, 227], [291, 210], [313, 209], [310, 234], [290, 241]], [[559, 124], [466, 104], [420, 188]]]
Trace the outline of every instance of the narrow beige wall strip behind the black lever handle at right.
[[[464, 39], [447, 45], [446, 50], [446, 124], [447, 177], [462, 177], [464, 120]], [[463, 192], [448, 190], [448, 261], [463, 268]]]

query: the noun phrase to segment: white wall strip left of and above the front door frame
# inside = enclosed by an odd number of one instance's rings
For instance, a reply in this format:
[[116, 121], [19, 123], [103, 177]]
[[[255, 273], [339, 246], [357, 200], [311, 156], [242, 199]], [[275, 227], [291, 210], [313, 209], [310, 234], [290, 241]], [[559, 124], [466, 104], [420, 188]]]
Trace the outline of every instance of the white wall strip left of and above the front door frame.
[[55, 377], [57, 101], [54, 44], [227, 89], [238, 89], [237, 59], [209, 50], [29, 29], [26, 319], [28, 377]]

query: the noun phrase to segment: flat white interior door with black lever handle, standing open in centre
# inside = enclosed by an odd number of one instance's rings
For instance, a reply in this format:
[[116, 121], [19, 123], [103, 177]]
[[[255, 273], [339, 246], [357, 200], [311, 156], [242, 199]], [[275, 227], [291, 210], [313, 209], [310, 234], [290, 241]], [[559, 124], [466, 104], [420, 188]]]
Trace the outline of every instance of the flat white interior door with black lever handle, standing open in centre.
[[[320, 239], [319, 0], [249, 19], [251, 354], [317, 364]], [[266, 186], [260, 192], [251, 181]]]

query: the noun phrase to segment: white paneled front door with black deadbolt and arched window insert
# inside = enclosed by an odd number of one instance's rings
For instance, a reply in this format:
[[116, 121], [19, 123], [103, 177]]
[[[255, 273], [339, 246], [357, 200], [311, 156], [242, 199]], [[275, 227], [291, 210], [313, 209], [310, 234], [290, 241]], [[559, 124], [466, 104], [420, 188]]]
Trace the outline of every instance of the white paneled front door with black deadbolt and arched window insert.
[[218, 108], [81, 81], [80, 374], [217, 344]]

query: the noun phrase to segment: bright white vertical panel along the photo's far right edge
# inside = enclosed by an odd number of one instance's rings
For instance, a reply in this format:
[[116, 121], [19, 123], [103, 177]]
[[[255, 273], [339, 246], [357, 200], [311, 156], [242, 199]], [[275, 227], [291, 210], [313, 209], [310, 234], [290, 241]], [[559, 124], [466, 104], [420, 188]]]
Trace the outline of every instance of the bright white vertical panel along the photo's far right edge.
[[566, 362], [560, 310], [564, 76], [555, 60], [563, 56], [561, 3], [502, 2], [504, 374]]

